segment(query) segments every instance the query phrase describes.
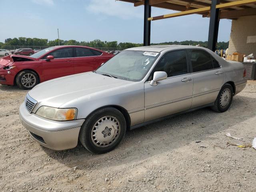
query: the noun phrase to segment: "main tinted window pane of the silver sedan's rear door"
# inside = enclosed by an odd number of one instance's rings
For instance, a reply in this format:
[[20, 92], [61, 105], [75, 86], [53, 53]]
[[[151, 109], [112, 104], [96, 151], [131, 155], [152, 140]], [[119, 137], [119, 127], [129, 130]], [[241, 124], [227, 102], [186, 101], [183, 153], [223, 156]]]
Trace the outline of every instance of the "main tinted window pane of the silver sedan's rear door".
[[193, 72], [210, 70], [213, 68], [210, 54], [203, 50], [190, 50], [189, 57]]

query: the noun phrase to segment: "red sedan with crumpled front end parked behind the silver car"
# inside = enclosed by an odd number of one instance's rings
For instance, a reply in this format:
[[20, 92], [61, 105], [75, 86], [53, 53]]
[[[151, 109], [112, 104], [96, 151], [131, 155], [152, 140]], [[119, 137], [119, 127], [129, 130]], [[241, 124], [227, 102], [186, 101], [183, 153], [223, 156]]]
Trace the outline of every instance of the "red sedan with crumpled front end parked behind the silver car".
[[95, 70], [114, 55], [85, 46], [54, 46], [0, 59], [0, 84], [28, 90], [50, 79]]

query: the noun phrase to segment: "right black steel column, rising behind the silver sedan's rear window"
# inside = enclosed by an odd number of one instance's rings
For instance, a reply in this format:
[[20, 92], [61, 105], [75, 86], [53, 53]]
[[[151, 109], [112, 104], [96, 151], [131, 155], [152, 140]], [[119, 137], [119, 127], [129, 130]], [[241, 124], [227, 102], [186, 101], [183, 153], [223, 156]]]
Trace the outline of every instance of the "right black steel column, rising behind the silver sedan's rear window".
[[216, 5], [220, 3], [220, 0], [212, 0], [211, 12], [210, 12], [210, 24], [208, 34], [208, 49], [215, 51], [218, 41], [219, 30], [219, 9], [216, 9]]

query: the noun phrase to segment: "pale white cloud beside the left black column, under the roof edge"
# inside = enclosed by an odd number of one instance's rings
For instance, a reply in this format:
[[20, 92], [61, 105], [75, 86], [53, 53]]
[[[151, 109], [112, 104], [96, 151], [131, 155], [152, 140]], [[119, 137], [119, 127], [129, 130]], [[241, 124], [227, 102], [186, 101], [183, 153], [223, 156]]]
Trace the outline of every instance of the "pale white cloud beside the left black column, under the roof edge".
[[103, 14], [122, 19], [143, 18], [143, 6], [114, 0], [91, 0], [86, 10], [93, 14]]

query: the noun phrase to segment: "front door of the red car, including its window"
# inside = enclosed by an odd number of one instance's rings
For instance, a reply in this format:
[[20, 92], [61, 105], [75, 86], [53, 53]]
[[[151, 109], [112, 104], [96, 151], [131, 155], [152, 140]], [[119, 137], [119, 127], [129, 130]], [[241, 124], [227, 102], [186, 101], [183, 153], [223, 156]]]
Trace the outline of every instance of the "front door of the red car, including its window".
[[[58, 77], [74, 74], [74, 49], [61, 48], [50, 52], [43, 58], [44, 79], [50, 80]], [[46, 60], [48, 55], [54, 56], [52, 60]]]

